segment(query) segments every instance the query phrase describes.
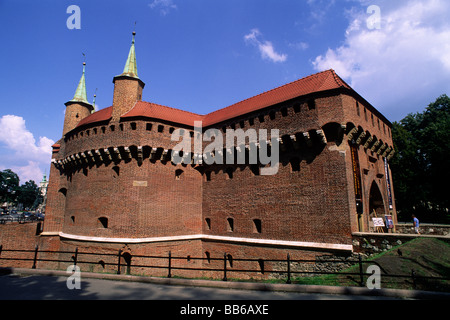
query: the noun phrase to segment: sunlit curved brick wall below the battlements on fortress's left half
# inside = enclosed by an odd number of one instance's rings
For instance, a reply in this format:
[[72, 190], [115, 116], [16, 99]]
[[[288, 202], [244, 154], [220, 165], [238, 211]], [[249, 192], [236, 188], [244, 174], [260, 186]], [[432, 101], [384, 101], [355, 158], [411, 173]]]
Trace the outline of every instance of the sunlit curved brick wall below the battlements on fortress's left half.
[[[201, 179], [193, 168], [135, 161], [72, 174], [63, 232], [139, 238], [201, 233]], [[99, 218], [107, 218], [107, 226]]]

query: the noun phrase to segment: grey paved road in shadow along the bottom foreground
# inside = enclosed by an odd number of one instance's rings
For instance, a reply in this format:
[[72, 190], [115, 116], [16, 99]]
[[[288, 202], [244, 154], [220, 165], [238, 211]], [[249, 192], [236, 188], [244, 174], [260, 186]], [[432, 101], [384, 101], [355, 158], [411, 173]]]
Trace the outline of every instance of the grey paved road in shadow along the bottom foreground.
[[183, 287], [154, 283], [81, 279], [69, 290], [67, 277], [0, 276], [0, 300], [376, 300], [379, 297], [338, 296], [295, 292]]

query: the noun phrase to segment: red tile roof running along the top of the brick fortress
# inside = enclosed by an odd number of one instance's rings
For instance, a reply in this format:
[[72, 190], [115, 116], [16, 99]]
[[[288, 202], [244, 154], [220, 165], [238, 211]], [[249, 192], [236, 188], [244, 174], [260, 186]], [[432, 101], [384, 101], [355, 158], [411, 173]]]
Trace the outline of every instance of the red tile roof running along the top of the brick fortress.
[[[121, 118], [145, 117], [188, 126], [193, 126], [194, 121], [203, 121], [203, 127], [206, 127], [310, 93], [338, 88], [352, 90], [352, 88], [350, 88], [350, 86], [345, 83], [334, 70], [327, 70], [266, 91], [207, 115], [199, 115], [155, 103], [138, 101], [134, 107], [129, 112], [122, 115]], [[95, 122], [107, 121], [111, 119], [111, 112], [112, 107], [99, 110], [81, 120], [77, 127]]]

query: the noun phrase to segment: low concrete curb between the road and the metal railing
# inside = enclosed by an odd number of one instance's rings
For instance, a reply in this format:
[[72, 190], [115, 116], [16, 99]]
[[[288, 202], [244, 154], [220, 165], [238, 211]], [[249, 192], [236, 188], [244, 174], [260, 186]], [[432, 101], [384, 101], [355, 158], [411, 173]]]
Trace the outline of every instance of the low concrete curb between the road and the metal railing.
[[[25, 269], [25, 268], [0, 268], [0, 275], [41, 275], [67, 277], [69, 274], [61, 270], [43, 270], [43, 269]], [[316, 294], [335, 294], [335, 295], [356, 295], [356, 296], [378, 296], [387, 298], [404, 298], [418, 300], [450, 300], [450, 293], [428, 292], [419, 290], [403, 289], [379, 289], [370, 290], [361, 287], [337, 287], [337, 286], [318, 286], [318, 285], [299, 285], [299, 284], [271, 284], [257, 282], [235, 282], [235, 281], [214, 281], [214, 280], [196, 280], [180, 278], [155, 278], [132, 275], [115, 275], [104, 273], [82, 272], [81, 278], [104, 279], [115, 281], [144, 282], [161, 285], [174, 285], [186, 287], [210, 287], [220, 289], [235, 290], [256, 290], [256, 291], [280, 291], [297, 293], [316, 293]]]

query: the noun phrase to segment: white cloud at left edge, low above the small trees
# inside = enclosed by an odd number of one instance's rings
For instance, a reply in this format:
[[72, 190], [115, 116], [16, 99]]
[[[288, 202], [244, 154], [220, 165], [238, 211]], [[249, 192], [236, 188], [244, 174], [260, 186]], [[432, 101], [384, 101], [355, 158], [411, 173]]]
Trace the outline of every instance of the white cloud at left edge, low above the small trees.
[[0, 169], [11, 169], [16, 172], [21, 183], [28, 180], [38, 182], [42, 179], [43, 170], [50, 165], [54, 141], [47, 137], [39, 137], [36, 142], [33, 134], [28, 131], [25, 120], [15, 115], [4, 115], [0, 118], [0, 143], [13, 159], [1, 158]]

